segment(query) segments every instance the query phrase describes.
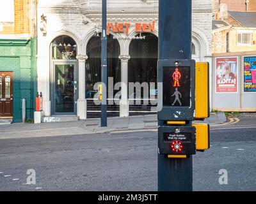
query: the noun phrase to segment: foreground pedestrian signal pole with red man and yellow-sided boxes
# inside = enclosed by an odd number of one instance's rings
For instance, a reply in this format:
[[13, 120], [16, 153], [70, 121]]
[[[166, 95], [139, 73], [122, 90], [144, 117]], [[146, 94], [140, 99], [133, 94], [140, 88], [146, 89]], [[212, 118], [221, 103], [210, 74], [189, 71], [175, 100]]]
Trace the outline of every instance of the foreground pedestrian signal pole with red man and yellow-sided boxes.
[[[195, 69], [191, 60], [191, 0], [159, 1], [159, 61], [158, 85], [158, 190], [192, 191], [192, 155], [196, 149], [209, 149], [209, 125], [193, 123], [209, 117], [208, 109], [195, 111], [196, 75], [206, 76], [205, 70]], [[202, 64], [200, 64], [202, 66]], [[207, 86], [207, 80], [198, 80]], [[199, 84], [198, 89], [201, 89]], [[209, 88], [208, 88], [209, 89]], [[197, 100], [209, 103], [207, 89], [197, 91]], [[207, 98], [208, 97], [208, 98]], [[200, 106], [199, 106], [200, 108]]]

